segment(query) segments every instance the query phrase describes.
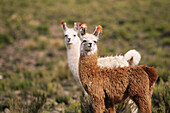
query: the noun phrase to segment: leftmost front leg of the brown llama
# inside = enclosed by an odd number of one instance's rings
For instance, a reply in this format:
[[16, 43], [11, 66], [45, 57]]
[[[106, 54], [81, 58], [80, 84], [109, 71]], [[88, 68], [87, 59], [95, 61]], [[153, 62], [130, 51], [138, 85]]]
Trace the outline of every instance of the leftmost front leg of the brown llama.
[[104, 99], [94, 98], [92, 107], [93, 107], [94, 113], [103, 113], [105, 110]]

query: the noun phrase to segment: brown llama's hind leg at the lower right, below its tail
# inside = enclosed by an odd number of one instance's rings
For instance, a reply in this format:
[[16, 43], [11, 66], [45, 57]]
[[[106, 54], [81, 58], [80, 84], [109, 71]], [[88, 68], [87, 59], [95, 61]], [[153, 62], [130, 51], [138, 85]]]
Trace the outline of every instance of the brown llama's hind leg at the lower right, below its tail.
[[140, 113], [151, 113], [151, 99], [147, 95], [145, 97], [133, 97], [134, 102], [137, 104]]

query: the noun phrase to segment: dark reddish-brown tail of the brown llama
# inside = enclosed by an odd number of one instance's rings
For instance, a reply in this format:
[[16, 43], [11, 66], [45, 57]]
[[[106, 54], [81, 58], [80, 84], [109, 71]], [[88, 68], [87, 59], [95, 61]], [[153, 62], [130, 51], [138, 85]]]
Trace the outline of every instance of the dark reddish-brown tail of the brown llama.
[[150, 90], [150, 96], [151, 96], [155, 82], [158, 79], [158, 73], [154, 67], [142, 66], [142, 68], [148, 74], [148, 77], [149, 77], [149, 90]]

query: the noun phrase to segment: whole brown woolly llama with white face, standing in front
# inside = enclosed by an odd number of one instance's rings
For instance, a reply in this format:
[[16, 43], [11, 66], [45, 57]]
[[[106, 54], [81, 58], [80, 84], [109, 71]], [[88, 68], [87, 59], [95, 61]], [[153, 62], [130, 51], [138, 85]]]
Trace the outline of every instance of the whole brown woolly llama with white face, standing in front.
[[97, 65], [97, 41], [101, 33], [98, 26], [93, 34], [80, 29], [83, 39], [80, 46], [79, 76], [92, 97], [94, 113], [115, 113], [115, 104], [130, 97], [141, 113], [151, 113], [151, 96], [158, 78], [154, 67], [129, 66], [101, 68]]

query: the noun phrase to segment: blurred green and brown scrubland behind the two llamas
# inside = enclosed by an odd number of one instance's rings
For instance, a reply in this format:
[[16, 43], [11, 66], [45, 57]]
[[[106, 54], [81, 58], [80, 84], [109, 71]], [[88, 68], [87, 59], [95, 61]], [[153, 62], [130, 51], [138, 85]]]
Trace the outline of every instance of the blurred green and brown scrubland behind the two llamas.
[[159, 73], [152, 112], [170, 112], [169, 12], [170, 0], [0, 0], [0, 112], [81, 111], [61, 21], [103, 26], [99, 56], [139, 51]]

